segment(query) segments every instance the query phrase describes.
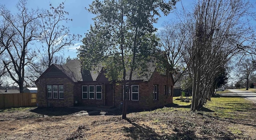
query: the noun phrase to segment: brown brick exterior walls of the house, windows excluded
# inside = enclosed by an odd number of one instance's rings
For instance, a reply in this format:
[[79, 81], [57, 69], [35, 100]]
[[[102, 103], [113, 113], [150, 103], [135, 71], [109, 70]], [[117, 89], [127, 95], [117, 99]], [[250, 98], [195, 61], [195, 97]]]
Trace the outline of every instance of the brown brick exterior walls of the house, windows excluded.
[[[172, 103], [172, 94], [164, 93], [164, 85], [173, 86], [171, 77], [154, 72], [147, 82], [134, 82], [132, 84], [139, 85], [139, 100], [129, 101], [128, 108], [153, 109], [163, 107]], [[104, 106], [105, 105], [105, 85], [102, 85], [102, 99], [82, 99], [82, 85], [99, 85], [98, 82], [78, 82], [74, 83], [68, 78], [42, 78], [38, 87], [38, 106], [39, 107], [70, 107], [70, 106]], [[48, 99], [46, 98], [46, 85], [64, 85], [64, 99]], [[153, 100], [153, 85], [158, 86], [158, 100]], [[115, 86], [113, 96], [114, 106], [120, 107], [122, 102], [122, 84]], [[75, 104], [77, 101], [77, 104]]]

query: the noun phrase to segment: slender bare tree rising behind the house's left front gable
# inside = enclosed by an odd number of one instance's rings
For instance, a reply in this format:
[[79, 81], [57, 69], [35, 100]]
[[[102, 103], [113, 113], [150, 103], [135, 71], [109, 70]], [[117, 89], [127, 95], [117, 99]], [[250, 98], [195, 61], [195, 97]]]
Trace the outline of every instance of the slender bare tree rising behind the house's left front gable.
[[[71, 34], [69, 28], [64, 26], [65, 23], [72, 21], [66, 16], [68, 16], [68, 12], [64, 10], [64, 2], [56, 8], [50, 4], [50, 10], [42, 10], [40, 18], [42, 50], [40, 53], [44, 57], [39, 58], [42, 59], [39, 61], [44, 61], [41, 63], [44, 68], [49, 68], [52, 63], [58, 62], [56, 61], [58, 53], [64, 48], [74, 45], [74, 42], [81, 38], [80, 35]], [[45, 56], [47, 56], [47, 60]]]

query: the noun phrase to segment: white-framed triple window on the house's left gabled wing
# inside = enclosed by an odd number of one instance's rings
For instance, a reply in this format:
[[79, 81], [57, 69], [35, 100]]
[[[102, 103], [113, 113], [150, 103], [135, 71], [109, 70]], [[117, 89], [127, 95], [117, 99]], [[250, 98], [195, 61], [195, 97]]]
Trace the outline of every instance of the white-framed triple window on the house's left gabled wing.
[[63, 99], [64, 86], [63, 85], [47, 85], [47, 98]]

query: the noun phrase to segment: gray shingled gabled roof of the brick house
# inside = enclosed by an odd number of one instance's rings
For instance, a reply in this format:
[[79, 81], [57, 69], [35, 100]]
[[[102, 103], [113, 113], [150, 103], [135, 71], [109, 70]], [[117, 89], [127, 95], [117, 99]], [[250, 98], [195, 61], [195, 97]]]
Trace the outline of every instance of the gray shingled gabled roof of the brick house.
[[[154, 66], [153, 62], [148, 62], [148, 71], [143, 74], [143, 72], [140, 72], [140, 68], [134, 70], [132, 80], [148, 81], [154, 71], [156, 71], [156, 66]], [[104, 72], [102, 66], [96, 66], [93, 70], [82, 70], [80, 60], [70, 60], [64, 65], [52, 64], [40, 78], [68, 77], [73, 82], [106, 81], [107, 78], [102, 75]], [[129, 74], [130, 70], [126, 70], [126, 80], [129, 79]]]

